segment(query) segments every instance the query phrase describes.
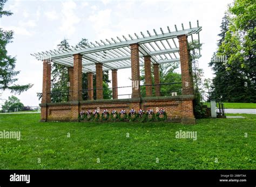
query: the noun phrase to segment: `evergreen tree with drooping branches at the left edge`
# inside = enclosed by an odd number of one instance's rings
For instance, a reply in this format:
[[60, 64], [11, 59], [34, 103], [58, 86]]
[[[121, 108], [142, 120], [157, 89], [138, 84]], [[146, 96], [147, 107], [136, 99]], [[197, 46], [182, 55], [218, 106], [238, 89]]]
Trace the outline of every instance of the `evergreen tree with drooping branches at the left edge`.
[[[6, 0], [0, 2], [0, 18], [12, 15], [10, 11], [3, 10], [5, 2]], [[0, 28], [0, 91], [8, 89], [19, 94], [31, 88], [32, 84], [14, 84], [18, 80], [14, 77], [19, 74], [19, 71], [15, 71], [16, 58], [8, 55], [6, 50], [6, 45], [12, 42], [13, 34], [13, 31]]]

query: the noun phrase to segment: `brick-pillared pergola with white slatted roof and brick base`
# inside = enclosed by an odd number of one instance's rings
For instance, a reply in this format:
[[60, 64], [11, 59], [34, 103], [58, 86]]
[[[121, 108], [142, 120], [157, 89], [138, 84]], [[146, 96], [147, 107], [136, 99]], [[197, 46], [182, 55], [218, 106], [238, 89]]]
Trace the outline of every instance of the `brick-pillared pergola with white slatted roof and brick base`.
[[[91, 42], [91, 46], [72, 46], [72, 50], [50, 50], [32, 54], [43, 61], [43, 92], [41, 103], [41, 121], [46, 120], [77, 120], [79, 111], [100, 109], [139, 110], [164, 108], [168, 119], [185, 124], [195, 123], [193, 114], [193, 81], [192, 68], [189, 62], [188, 37], [194, 42], [197, 37], [200, 45], [199, 32], [201, 26], [167, 32], [160, 28], [161, 33], [147, 31], [142, 37], [134, 33], [129, 39], [111, 38], [105, 41]], [[199, 48], [200, 54], [200, 48]], [[160, 96], [159, 64], [180, 62], [182, 95]], [[68, 67], [69, 102], [51, 103], [51, 63], [59, 63]], [[140, 93], [140, 70], [145, 68], [146, 97]], [[132, 97], [118, 99], [118, 69], [131, 68]], [[153, 69], [152, 69], [153, 68]], [[112, 71], [112, 99], [103, 99], [103, 71]], [[153, 77], [151, 71], [153, 70]], [[87, 100], [82, 99], [82, 73], [87, 74]], [[93, 99], [93, 73], [96, 73], [96, 100]], [[154, 80], [154, 84], [152, 84]], [[154, 87], [154, 95], [152, 88]]]

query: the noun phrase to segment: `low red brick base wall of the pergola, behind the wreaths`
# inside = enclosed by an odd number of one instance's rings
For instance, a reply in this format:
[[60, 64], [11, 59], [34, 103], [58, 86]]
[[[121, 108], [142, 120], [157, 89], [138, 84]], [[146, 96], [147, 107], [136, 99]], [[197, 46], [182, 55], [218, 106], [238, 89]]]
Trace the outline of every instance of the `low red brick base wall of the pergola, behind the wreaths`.
[[78, 114], [84, 110], [96, 110], [100, 108], [100, 113], [107, 109], [120, 111], [130, 109], [138, 111], [142, 108], [144, 111], [158, 107], [163, 108], [167, 113], [167, 119], [173, 123], [194, 124], [196, 122], [193, 114], [193, 95], [169, 96], [169, 97], [147, 97], [132, 99], [108, 99], [108, 100], [86, 100], [81, 102], [49, 103], [41, 104], [42, 109], [47, 109], [47, 120], [55, 121], [76, 121]]

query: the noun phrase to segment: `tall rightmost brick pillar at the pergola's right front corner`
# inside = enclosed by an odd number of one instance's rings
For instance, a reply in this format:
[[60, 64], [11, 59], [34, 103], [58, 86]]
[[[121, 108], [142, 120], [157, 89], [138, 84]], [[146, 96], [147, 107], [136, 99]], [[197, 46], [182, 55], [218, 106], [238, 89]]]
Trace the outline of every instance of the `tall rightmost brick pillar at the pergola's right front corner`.
[[179, 35], [179, 55], [182, 81], [182, 95], [193, 95], [192, 68], [189, 62], [187, 36]]

